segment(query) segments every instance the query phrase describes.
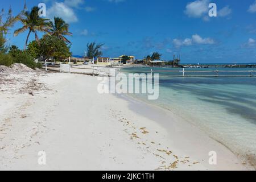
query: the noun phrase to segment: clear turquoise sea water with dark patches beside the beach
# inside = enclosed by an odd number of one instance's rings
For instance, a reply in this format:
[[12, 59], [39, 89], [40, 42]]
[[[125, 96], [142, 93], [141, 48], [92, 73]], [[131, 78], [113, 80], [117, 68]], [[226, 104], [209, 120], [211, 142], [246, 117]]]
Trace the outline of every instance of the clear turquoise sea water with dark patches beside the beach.
[[[157, 71], [179, 71], [153, 68]], [[185, 69], [210, 71], [216, 68]], [[222, 71], [251, 71], [251, 68], [218, 68]], [[254, 69], [256, 70], [256, 69]], [[122, 72], [146, 73], [150, 68], [126, 68]], [[196, 74], [199, 73], [186, 73]], [[216, 73], [200, 73], [214, 75]], [[220, 75], [250, 75], [219, 73]], [[256, 72], [255, 77], [168, 77], [178, 72], [159, 72], [159, 99], [147, 100], [146, 94], [132, 97], [171, 110], [193, 123], [210, 137], [236, 154], [256, 161]]]

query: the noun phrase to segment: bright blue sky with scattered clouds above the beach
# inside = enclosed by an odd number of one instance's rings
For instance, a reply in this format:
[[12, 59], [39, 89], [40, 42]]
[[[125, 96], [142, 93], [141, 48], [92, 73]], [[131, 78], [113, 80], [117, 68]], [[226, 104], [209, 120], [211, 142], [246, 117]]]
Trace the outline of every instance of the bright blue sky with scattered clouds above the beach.
[[[256, 63], [255, 0], [30, 0], [28, 9], [46, 3], [47, 17], [60, 16], [70, 24], [73, 55], [86, 44], [104, 43], [104, 56], [134, 55], [137, 59], [160, 52], [164, 60], [181, 55], [183, 63]], [[217, 17], [209, 17], [209, 3]], [[14, 14], [24, 1], [1, 0]], [[9, 43], [24, 47], [27, 32]], [[42, 35], [41, 35], [42, 36]], [[34, 35], [30, 37], [34, 40]]]

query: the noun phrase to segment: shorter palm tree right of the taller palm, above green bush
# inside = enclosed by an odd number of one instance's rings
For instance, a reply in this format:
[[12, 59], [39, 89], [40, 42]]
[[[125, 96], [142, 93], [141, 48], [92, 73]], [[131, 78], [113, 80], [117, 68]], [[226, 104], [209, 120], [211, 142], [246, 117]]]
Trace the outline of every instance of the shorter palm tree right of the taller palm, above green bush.
[[72, 35], [72, 33], [68, 31], [68, 23], [66, 23], [62, 18], [54, 17], [54, 22], [51, 21], [49, 24], [51, 26], [51, 28], [49, 28], [50, 35], [56, 36], [57, 38], [71, 44], [71, 42], [65, 38], [65, 35]]

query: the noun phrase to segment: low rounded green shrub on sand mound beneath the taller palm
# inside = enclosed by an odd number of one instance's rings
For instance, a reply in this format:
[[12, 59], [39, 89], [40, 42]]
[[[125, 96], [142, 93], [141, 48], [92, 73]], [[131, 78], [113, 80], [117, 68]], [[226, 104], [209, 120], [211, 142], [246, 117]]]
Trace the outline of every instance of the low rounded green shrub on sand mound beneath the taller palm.
[[22, 63], [32, 69], [35, 69], [37, 65], [33, 58], [26, 52], [19, 52], [18, 55], [15, 55], [13, 57], [13, 63]]

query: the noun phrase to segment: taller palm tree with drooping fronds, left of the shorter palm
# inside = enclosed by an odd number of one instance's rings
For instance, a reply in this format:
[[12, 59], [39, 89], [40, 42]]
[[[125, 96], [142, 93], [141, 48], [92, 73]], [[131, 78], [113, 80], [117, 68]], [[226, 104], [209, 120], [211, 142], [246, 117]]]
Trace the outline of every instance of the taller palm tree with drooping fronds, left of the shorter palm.
[[20, 22], [22, 22], [23, 27], [14, 31], [14, 36], [17, 36], [28, 30], [24, 50], [27, 48], [27, 42], [31, 32], [35, 34], [35, 39], [39, 43], [38, 32], [47, 32], [49, 29], [49, 23], [47, 22], [49, 19], [40, 18], [38, 11], [39, 7], [36, 6], [32, 7], [31, 11], [25, 11], [22, 18], [20, 18]]

